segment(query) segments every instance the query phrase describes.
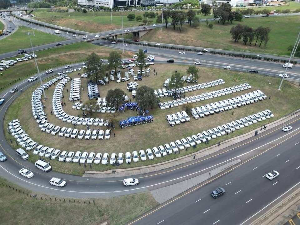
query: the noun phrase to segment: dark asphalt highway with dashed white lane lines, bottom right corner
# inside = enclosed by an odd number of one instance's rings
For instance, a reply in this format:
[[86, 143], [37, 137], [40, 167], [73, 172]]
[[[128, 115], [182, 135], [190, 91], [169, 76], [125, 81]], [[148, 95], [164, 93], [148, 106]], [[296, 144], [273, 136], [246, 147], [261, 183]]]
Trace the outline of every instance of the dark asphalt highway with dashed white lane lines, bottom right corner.
[[[165, 206], [159, 206], [134, 224], [198, 225], [200, 221], [213, 225], [249, 224], [253, 217], [248, 218], [291, 187], [299, 186], [299, 132], [298, 129], [290, 133], [287, 138], [230, 173], [193, 188]], [[270, 181], [265, 175], [272, 170], [277, 170], [279, 176]], [[226, 194], [212, 198], [210, 192], [216, 187], [225, 188]]]

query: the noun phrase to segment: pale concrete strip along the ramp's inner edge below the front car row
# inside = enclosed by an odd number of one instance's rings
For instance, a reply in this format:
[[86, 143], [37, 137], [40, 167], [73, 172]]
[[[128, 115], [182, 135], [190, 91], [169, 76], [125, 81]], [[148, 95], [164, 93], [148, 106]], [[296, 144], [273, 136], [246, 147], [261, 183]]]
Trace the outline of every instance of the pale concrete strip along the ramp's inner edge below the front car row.
[[[295, 118], [300, 115], [300, 110], [297, 110], [285, 117], [282, 117], [272, 123], [267, 124], [267, 130], [262, 130], [261, 132], [258, 131], [258, 135], [261, 133], [266, 133], [269, 129], [274, 128], [280, 124], [284, 124], [285, 122], [291, 120], [292, 118]], [[201, 149], [196, 153], [191, 153], [183, 157], [179, 157], [176, 159], [172, 159], [166, 162], [157, 163], [153, 165], [143, 166], [143, 167], [136, 167], [136, 168], [128, 168], [128, 169], [115, 169], [116, 173], [113, 173], [113, 170], [107, 170], [107, 171], [85, 171], [83, 174], [83, 177], [94, 177], [94, 178], [111, 178], [111, 177], [126, 177], [126, 176], [133, 176], [133, 175], [139, 175], [139, 174], [145, 174], [145, 173], [151, 173], [156, 172], [159, 170], [171, 168], [174, 166], [178, 166], [183, 163], [188, 163], [193, 161], [193, 156], [196, 155], [196, 159], [205, 157], [209, 154], [215, 153], [219, 150], [222, 150], [223, 148], [232, 146], [238, 142], [241, 142], [243, 140], [246, 140], [248, 138], [253, 137], [255, 130], [252, 130], [248, 133], [245, 133], [243, 135], [230, 138], [222, 143], [220, 143], [220, 147], [216, 145], [212, 145], [208, 148]]]

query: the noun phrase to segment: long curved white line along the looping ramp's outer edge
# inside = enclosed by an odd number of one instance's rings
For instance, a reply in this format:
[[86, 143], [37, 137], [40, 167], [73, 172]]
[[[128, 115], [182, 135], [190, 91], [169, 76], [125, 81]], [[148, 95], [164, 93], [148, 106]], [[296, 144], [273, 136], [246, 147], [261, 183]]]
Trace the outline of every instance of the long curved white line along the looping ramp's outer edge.
[[[273, 141], [271, 141], [271, 142], [269, 142], [269, 143], [266, 143], [266, 144], [264, 144], [264, 145], [262, 145], [262, 146], [260, 146], [260, 147], [257, 147], [257, 148], [261, 148], [261, 147], [263, 147], [263, 146], [265, 146], [265, 145], [268, 145], [268, 144], [270, 144], [270, 143], [272, 143], [272, 142], [274, 142], [274, 141], [277, 141], [278, 139], [281, 139], [281, 138], [283, 138], [283, 137], [285, 137], [285, 136], [287, 136], [287, 135], [290, 135], [291, 133], [296, 132], [298, 129], [300, 129], [300, 128], [297, 128], [297, 129], [293, 130], [292, 132], [287, 133], [287, 134], [283, 135], [282, 137], [277, 138], [277, 139], [275, 139], [275, 140], [273, 140]], [[257, 148], [255, 148], [255, 149], [257, 149]], [[252, 150], [251, 150], [251, 151], [252, 151]], [[249, 151], [249, 152], [250, 152], [250, 151]], [[249, 152], [247, 152], [247, 153], [249, 153]], [[120, 191], [107, 191], [107, 192], [69, 191], [69, 190], [62, 190], [62, 189], [56, 189], [56, 188], [52, 188], [52, 187], [47, 187], [47, 186], [43, 186], [43, 185], [39, 185], [39, 184], [35, 184], [35, 183], [32, 183], [32, 182], [29, 182], [29, 181], [27, 181], [27, 180], [23, 180], [23, 179], [21, 179], [21, 178], [15, 176], [14, 174], [10, 173], [7, 169], [5, 169], [4, 167], [2, 167], [1, 165], [0, 165], [0, 167], [1, 167], [3, 170], [5, 170], [7, 173], [11, 174], [13, 177], [15, 177], [15, 178], [17, 178], [17, 179], [20, 179], [20, 180], [22, 180], [22, 181], [24, 181], [24, 182], [26, 182], [26, 183], [30, 183], [30, 184], [32, 184], [32, 185], [36, 185], [36, 186], [38, 186], [38, 187], [44, 187], [44, 188], [48, 188], [48, 189], [52, 189], [52, 190], [56, 190], [56, 191], [71, 192], [71, 193], [103, 194], [103, 193], [128, 192], [128, 191], [134, 191], [134, 190], [139, 190], [139, 189], [148, 188], [148, 187], [154, 187], [154, 186], [157, 186], [157, 185], [160, 185], [160, 184], [163, 184], [163, 183], [168, 183], [168, 182], [172, 182], [172, 181], [175, 181], [175, 180], [178, 180], [178, 179], [182, 179], [182, 178], [185, 178], [185, 177], [194, 175], [194, 174], [196, 174], [196, 173], [201, 173], [201, 172], [204, 171], [204, 170], [207, 170], [207, 169], [210, 169], [210, 168], [212, 168], [212, 167], [218, 166], [218, 165], [220, 165], [220, 164], [222, 164], [222, 163], [226, 163], [226, 162], [228, 162], [228, 161], [230, 161], [230, 160], [232, 160], [232, 159], [238, 158], [238, 157], [239, 157], [239, 156], [233, 157], [233, 158], [228, 159], [228, 160], [226, 160], [226, 161], [224, 161], [224, 162], [218, 163], [218, 164], [213, 165], [213, 166], [211, 166], [211, 167], [207, 167], [207, 168], [202, 169], [202, 170], [200, 170], [200, 171], [196, 171], [196, 172], [194, 172], [194, 173], [190, 173], [190, 174], [187, 174], [187, 175], [185, 175], [185, 176], [182, 176], [182, 177], [179, 177], [179, 178], [174, 178], [174, 179], [172, 179], [172, 180], [164, 181], [164, 182], [161, 182], [161, 183], [156, 183], [156, 184], [148, 185], [148, 186], [145, 186], [145, 187], [137, 187], [137, 188], [132, 188], [132, 189], [126, 189], [126, 190], [120, 190]], [[267, 174], [266, 174], [266, 175], [267, 175]], [[264, 176], [265, 176], [265, 175], [264, 175]], [[264, 177], [264, 176], [263, 176], [263, 177]], [[79, 181], [73, 181], [73, 182], [79, 182]]]

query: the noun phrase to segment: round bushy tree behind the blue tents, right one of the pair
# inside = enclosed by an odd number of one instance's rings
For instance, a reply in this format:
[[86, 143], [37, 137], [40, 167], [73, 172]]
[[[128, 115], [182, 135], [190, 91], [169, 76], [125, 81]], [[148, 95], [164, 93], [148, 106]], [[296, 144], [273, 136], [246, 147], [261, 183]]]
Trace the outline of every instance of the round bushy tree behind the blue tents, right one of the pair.
[[158, 103], [158, 99], [154, 95], [154, 89], [149, 88], [145, 85], [138, 88], [137, 95], [135, 98], [138, 103], [138, 107], [142, 108], [143, 111], [146, 111], [148, 108], [156, 106]]

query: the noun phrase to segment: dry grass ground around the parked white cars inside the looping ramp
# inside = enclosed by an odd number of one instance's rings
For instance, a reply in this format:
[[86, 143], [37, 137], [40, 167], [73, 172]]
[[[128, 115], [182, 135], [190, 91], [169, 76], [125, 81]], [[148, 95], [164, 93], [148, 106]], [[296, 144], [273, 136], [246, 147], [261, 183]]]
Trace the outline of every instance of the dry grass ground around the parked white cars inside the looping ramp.
[[[143, 78], [142, 81], [139, 81], [139, 85], [148, 85], [150, 87], [153, 87], [154, 89], [158, 89], [162, 87], [163, 82], [166, 80], [166, 78], [171, 76], [172, 71], [180, 71], [182, 73], [185, 73], [186, 66], [180, 66], [180, 65], [155, 65], [152, 66], [151, 69], [158, 72], [158, 76], [150, 76]], [[259, 111], [270, 109], [275, 117], [272, 119], [269, 119], [267, 121], [252, 125], [248, 128], [244, 128], [242, 130], [238, 130], [234, 132], [234, 134], [230, 134], [228, 136], [222, 136], [220, 138], [214, 139], [210, 141], [210, 144], [215, 144], [218, 142], [221, 142], [225, 140], [226, 138], [231, 138], [234, 136], [241, 135], [242, 133], [246, 133], [252, 129], [258, 128], [266, 123], [270, 123], [271, 121], [274, 121], [290, 112], [293, 112], [300, 108], [300, 102], [297, 101], [297, 96], [300, 94], [300, 90], [293, 85], [291, 85], [288, 82], [283, 83], [282, 91], [278, 91], [278, 85], [280, 83], [279, 78], [271, 78], [271, 77], [264, 77], [259, 76], [256, 74], [249, 74], [249, 73], [239, 73], [239, 72], [232, 72], [232, 71], [224, 71], [219, 69], [212, 69], [212, 68], [204, 68], [200, 67], [201, 78], [198, 79], [198, 82], [207, 82], [211, 81], [217, 78], [222, 78], [225, 80], [225, 84], [222, 86], [217, 86], [213, 88], [209, 88], [209, 91], [211, 90], [217, 90], [220, 88], [225, 87], [231, 87], [233, 85], [237, 85], [240, 83], [249, 83], [252, 86], [251, 91], [260, 89], [264, 93], [266, 93], [267, 96], [272, 96], [271, 100], [263, 100], [258, 103], [254, 103], [242, 108], [234, 109], [234, 115], [232, 115], [232, 111], [227, 111], [224, 113], [216, 114], [210, 117], [201, 118], [199, 120], [194, 120], [192, 118], [192, 121], [190, 123], [184, 123], [180, 125], [176, 125], [173, 128], [170, 128], [168, 126], [168, 123], [166, 121], [166, 115], [176, 113], [181, 110], [186, 110], [185, 106], [182, 107], [175, 107], [172, 109], [166, 109], [161, 110], [159, 108], [154, 108], [153, 110], [150, 110], [150, 114], [154, 116], [154, 123], [148, 123], [143, 125], [138, 125], [130, 128], [126, 128], [121, 130], [116, 125], [116, 129], [112, 131], [111, 138], [109, 140], [78, 140], [76, 139], [66, 139], [62, 137], [52, 136], [50, 134], [42, 133], [40, 129], [37, 126], [37, 123], [35, 122], [34, 118], [32, 117], [31, 108], [28, 107], [30, 105], [30, 97], [32, 91], [36, 87], [30, 88], [28, 91], [23, 93], [17, 100], [15, 100], [11, 107], [8, 108], [8, 111], [5, 116], [5, 122], [4, 124], [7, 124], [12, 119], [18, 118], [21, 121], [21, 125], [23, 129], [32, 137], [35, 141], [37, 141], [40, 144], [43, 144], [44, 146], [50, 146], [53, 148], [58, 148], [60, 150], [66, 150], [66, 151], [87, 151], [87, 152], [101, 152], [101, 153], [119, 153], [119, 152], [132, 152], [133, 150], [140, 150], [140, 149], [147, 149], [147, 148], [153, 148], [154, 146], [163, 145], [165, 143], [169, 143], [171, 141], [175, 141], [177, 139], [181, 139], [183, 137], [190, 136], [192, 134], [197, 134], [199, 132], [202, 132], [203, 130], [210, 129], [212, 127], [222, 125], [225, 122], [231, 122], [232, 120], [239, 119], [241, 117], [247, 116], [249, 114], [257, 113]], [[78, 77], [77, 74], [72, 74], [73, 77]], [[271, 83], [270, 85], [268, 83]], [[82, 101], [85, 102], [87, 100], [87, 93], [86, 93], [86, 82], [85, 79], [82, 79], [82, 85], [85, 91], [81, 92]], [[68, 93], [66, 92], [66, 89], [70, 88], [70, 82], [66, 85], [66, 88], [64, 88], [63, 95], [64, 99], [63, 101], [66, 101], [66, 107], [64, 107], [65, 112], [71, 113], [72, 115], [79, 116], [82, 115], [82, 111], [73, 110], [72, 103], [68, 101]], [[126, 90], [126, 83], [115, 83], [111, 82], [108, 85], [99, 87], [100, 89], [100, 95], [102, 97], [106, 96], [106, 93], [109, 89], [114, 88], [121, 88], [125, 91], [125, 93], [128, 93], [128, 96], [130, 96], [130, 93]], [[51, 99], [53, 95], [54, 86], [50, 87], [48, 90], [46, 90], [46, 95], [48, 97], [48, 100], [44, 102], [46, 109], [45, 112], [47, 113], [48, 120], [50, 123], [54, 123], [56, 125], [59, 125], [61, 127], [70, 127], [74, 128], [73, 125], [69, 123], [65, 123], [62, 121], [59, 121], [54, 115], [50, 115], [50, 111], [52, 109], [51, 105]], [[198, 90], [194, 91], [192, 93], [186, 93], [186, 96], [194, 95], [194, 94], [200, 94], [203, 92], [207, 92], [207, 90]], [[241, 95], [242, 93], [248, 93], [249, 91], [243, 91], [238, 94], [231, 94], [226, 97], [219, 97], [217, 99], [210, 99], [206, 100], [201, 103], [193, 103], [191, 106], [196, 107], [200, 105], [204, 105], [207, 103], [212, 103], [215, 101], [220, 101], [227, 98], [236, 97], [237, 95]], [[132, 100], [134, 101], [134, 100]], [[166, 101], [166, 99], [163, 99], [163, 101]], [[281, 107], [278, 107], [278, 106]], [[94, 113], [92, 117], [94, 118], [105, 118], [107, 114], [102, 113]], [[128, 118], [130, 116], [135, 116], [135, 111], [125, 111], [125, 113], [117, 116], [118, 121], [121, 119]], [[86, 129], [86, 126], [76, 126], [77, 129]], [[91, 129], [104, 129], [103, 127], [93, 127], [91, 126]], [[113, 133], [116, 134], [116, 137], [113, 137]], [[166, 135], [168, 134], [168, 135]], [[6, 138], [12, 138], [6, 133]], [[17, 148], [15, 142], [12, 145], [13, 148]], [[163, 158], [155, 158], [154, 160], [150, 161], [139, 161], [138, 163], [131, 163], [130, 165], [121, 165], [119, 168], [128, 168], [128, 167], [136, 167], [136, 166], [143, 166], [153, 163], [159, 163], [163, 160], [169, 160], [173, 159], [179, 156], [183, 156], [185, 154], [189, 154], [194, 151], [198, 151], [202, 148], [205, 148], [206, 145], [198, 145], [196, 149], [190, 148], [188, 151], [182, 151], [180, 155], [169, 155], [168, 157]], [[29, 160], [31, 162], [35, 162], [39, 157], [36, 155], [33, 155], [30, 153]], [[54, 170], [62, 172], [62, 173], [72, 173], [77, 175], [82, 175], [86, 168], [83, 167], [83, 165], [79, 166], [75, 163], [61, 163], [58, 161], [51, 162], [51, 165], [53, 166]], [[107, 169], [114, 168], [113, 166], [103, 166], [103, 165], [92, 165], [92, 170], [96, 171], [104, 171]], [[89, 168], [88, 168], [89, 169]]]

